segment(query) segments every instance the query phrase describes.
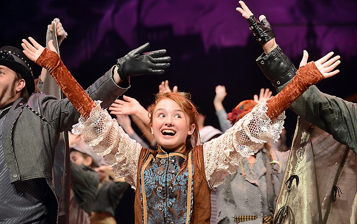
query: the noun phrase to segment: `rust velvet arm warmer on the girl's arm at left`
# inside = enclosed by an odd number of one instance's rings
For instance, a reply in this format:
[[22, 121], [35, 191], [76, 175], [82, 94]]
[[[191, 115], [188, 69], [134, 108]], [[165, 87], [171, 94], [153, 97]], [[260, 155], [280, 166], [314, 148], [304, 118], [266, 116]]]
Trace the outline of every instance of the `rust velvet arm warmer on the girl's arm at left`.
[[36, 60], [36, 64], [45, 68], [52, 75], [64, 95], [67, 96], [76, 110], [87, 119], [92, 108], [95, 107], [95, 103], [69, 73], [58, 54], [45, 48]]

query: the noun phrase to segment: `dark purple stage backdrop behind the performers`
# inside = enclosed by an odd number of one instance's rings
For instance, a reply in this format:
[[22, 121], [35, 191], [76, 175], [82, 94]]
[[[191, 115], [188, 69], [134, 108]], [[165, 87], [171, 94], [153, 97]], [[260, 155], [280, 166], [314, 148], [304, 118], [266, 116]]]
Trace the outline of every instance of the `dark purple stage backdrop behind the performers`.
[[[340, 54], [341, 73], [318, 87], [344, 98], [356, 93], [356, 0], [246, 3], [256, 16], [267, 16], [277, 42], [296, 65], [303, 49], [310, 60], [329, 51]], [[153, 50], [167, 49], [172, 66], [166, 75], [132, 78], [127, 95], [147, 105], [159, 83], [168, 79], [191, 92], [207, 115], [206, 124], [218, 127], [212, 105], [216, 85], [226, 85], [228, 111], [261, 87], [272, 87], [255, 65], [262, 50], [237, 6], [237, 0], [12, 0], [2, 3], [0, 40], [1, 45], [20, 47], [22, 38], [32, 36], [44, 45], [47, 24], [59, 17], [68, 32], [61, 46], [62, 60], [85, 88], [117, 58], [150, 42]], [[35, 71], [38, 75], [40, 68]], [[296, 116], [288, 111], [288, 133], [293, 133], [295, 123]]]

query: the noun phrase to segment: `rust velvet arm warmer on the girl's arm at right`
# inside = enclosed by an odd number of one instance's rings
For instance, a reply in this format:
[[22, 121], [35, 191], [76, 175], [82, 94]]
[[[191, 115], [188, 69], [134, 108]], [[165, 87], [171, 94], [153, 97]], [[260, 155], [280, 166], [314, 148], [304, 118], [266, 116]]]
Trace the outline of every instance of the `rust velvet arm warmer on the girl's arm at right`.
[[324, 78], [314, 62], [309, 62], [305, 66], [300, 67], [292, 81], [275, 97], [267, 101], [268, 117], [273, 121], [283, 111], [288, 109], [308, 87]]

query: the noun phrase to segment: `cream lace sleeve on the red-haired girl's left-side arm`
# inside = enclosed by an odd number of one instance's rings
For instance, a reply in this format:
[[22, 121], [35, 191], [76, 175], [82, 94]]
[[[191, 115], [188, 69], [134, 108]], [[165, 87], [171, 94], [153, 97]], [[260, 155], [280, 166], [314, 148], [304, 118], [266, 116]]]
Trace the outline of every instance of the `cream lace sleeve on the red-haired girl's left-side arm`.
[[125, 181], [136, 189], [137, 166], [141, 145], [122, 130], [118, 122], [100, 107], [101, 101], [96, 101], [86, 120], [82, 116], [78, 124], [73, 125], [72, 133], [83, 135], [88, 146], [102, 155], [108, 165], [113, 168], [117, 177], [125, 177]]

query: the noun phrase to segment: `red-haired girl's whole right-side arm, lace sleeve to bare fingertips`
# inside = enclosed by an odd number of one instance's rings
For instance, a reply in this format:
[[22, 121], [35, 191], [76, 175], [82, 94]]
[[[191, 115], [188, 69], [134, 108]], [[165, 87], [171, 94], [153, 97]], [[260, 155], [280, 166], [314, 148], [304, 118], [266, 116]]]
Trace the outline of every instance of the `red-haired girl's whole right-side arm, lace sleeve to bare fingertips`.
[[[258, 104], [223, 135], [203, 144], [205, 172], [210, 187], [237, 170], [239, 161], [254, 154], [266, 141], [277, 141], [283, 126], [281, 115], [310, 85], [338, 73], [332, 53], [302, 66], [294, 79], [266, 103]], [[245, 131], [244, 131], [245, 130]]]

